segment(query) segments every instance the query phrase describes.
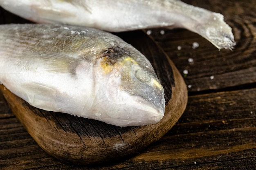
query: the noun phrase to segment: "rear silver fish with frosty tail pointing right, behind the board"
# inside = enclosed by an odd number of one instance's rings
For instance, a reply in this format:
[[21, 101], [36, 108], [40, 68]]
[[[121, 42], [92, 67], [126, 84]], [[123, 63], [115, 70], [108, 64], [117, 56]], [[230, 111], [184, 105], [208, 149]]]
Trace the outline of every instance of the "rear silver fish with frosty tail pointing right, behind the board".
[[236, 45], [222, 14], [180, 0], [0, 0], [0, 6], [40, 23], [89, 26], [110, 32], [184, 28], [218, 49]]

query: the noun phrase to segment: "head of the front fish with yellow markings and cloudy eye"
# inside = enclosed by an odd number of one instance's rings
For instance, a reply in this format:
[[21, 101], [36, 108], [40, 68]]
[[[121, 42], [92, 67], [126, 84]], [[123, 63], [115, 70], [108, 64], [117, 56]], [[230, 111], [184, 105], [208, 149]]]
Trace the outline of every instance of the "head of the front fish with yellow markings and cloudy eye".
[[141, 126], [164, 116], [164, 88], [150, 62], [138, 55], [105, 55], [97, 62], [97, 103], [103, 106], [98, 115], [108, 124]]

